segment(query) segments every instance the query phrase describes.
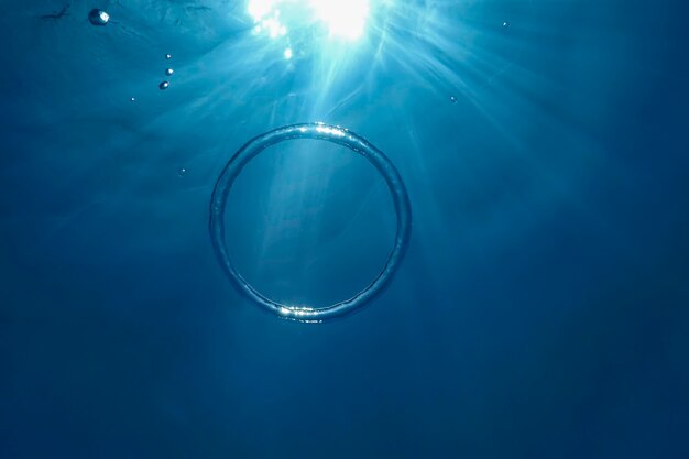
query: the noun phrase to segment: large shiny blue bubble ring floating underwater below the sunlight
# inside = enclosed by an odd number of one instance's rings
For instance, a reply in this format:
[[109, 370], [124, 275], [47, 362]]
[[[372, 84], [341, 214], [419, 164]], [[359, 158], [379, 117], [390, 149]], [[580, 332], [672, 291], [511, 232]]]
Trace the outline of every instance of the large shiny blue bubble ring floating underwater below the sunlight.
[[[395, 212], [397, 215], [395, 245], [393, 247], [385, 265], [375, 278], [364, 289], [349, 299], [318, 308], [288, 306], [263, 296], [237, 271], [234, 264], [232, 263], [232, 259], [229, 255], [225, 239], [225, 207], [234, 179], [239, 176], [243, 167], [263, 150], [280, 142], [295, 139], [325, 140], [346, 146], [354, 153], [359, 153], [369, 160], [385, 179], [393, 198]], [[322, 123], [293, 124], [278, 128], [253, 138], [239, 149], [237, 153], [234, 153], [220, 173], [218, 182], [216, 182], [216, 186], [210, 198], [209, 227], [210, 239], [218, 260], [223, 271], [240, 293], [252, 299], [259, 306], [276, 314], [280, 317], [299, 321], [320, 323], [326, 319], [344, 316], [359, 309], [365, 303], [370, 302], [376, 294], [379, 294], [390, 282], [394, 272], [400, 266], [409, 242], [412, 208], [400, 173], [383, 154], [383, 152], [378, 150], [365, 139], [335, 125]]]

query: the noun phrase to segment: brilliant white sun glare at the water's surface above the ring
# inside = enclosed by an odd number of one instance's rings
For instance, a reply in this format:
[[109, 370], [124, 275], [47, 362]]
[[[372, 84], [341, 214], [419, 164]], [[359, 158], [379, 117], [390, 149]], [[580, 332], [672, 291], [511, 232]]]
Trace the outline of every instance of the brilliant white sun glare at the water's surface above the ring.
[[365, 29], [369, 0], [249, 0], [247, 11], [254, 32], [267, 31], [272, 39], [287, 33], [285, 24], [294, 29], [320, 22], [331, 36], [357, 40]]

